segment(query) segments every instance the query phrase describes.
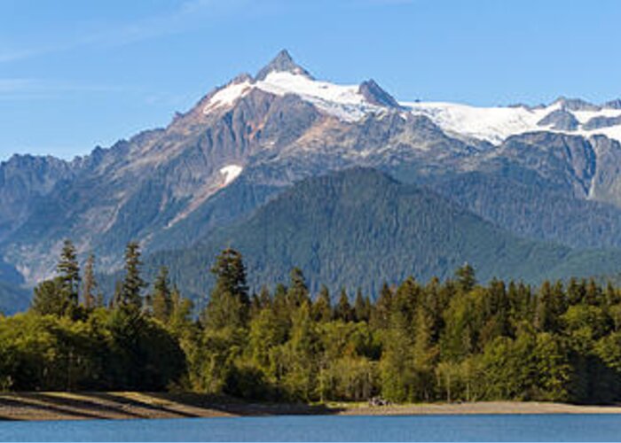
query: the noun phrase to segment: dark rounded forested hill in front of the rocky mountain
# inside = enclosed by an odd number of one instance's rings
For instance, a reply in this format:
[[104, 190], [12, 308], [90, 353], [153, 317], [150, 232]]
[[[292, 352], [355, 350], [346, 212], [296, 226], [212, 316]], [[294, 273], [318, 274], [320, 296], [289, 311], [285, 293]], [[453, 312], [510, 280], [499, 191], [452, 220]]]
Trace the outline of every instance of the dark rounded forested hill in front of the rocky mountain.
[[373, 295], [382, 282], [413, 275], [444, 278], [468, 262], [491, 277], [538, 283], [546, 277], [616, 272], [621, 252], [576, 252], [525, 240], [484, 221], [433, 190], [353, 168], [296, 183], [246, 221], [181, 251], [154, 254], [147, 268], [170, 267], [185, 293], [208, 293], [208, 268], [232, 246], [245, 257], [250, 283], [287, 283], [303, 269], [310, 287], [357, 287]]

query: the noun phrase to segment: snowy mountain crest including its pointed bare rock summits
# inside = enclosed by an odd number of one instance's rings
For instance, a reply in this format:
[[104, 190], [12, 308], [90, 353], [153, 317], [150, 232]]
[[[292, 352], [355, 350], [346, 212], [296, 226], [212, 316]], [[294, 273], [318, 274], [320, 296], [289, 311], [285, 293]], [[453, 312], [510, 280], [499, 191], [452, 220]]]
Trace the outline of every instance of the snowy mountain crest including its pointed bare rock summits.
[[449, 134], [492, 144], [500, 144], [508, 136], [535, 131], [603, 135], [621, 141], [621, 100], [593, 105], [579, 98], [559, 97], [549, 105], [487, 107], [441, 102], [400, 103], [373, 80], [359, 85], [317, 80], [297, 65], [287, 51], [280, 51], [254, 78], [241, 75], [217, 89], [202, 111], [210, 114], [228, 110], [253, 89], [276, 96], [296, 95], [320, 112], [342, 121], [353, 122], [372, 113], [394, 111], [424, 115]]

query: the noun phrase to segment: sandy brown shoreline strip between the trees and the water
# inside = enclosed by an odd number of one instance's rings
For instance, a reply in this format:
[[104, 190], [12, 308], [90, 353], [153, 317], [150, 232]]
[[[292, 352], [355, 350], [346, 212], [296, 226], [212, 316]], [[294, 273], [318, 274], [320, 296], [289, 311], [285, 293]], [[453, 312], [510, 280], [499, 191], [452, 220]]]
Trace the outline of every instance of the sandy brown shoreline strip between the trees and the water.
[[6, 392], [0, 393], [0, 421], [207, 418], [236, 416], [334, 415], [428, 416], [507, 414], [621, 414], [621, 405], [586, 406], [539, 401], [421, 403], [371, 407], [366, 403], [326, 405], [260, 403], [166, 392]]

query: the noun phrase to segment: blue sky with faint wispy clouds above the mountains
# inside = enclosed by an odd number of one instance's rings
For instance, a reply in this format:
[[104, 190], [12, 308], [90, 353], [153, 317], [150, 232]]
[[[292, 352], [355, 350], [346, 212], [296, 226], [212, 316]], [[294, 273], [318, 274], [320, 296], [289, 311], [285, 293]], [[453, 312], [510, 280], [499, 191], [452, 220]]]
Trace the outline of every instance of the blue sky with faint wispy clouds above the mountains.
[[0, 0], [0, 159], [166, 125], [287, 48], [399, 99], [621, 97], [616, 0]]

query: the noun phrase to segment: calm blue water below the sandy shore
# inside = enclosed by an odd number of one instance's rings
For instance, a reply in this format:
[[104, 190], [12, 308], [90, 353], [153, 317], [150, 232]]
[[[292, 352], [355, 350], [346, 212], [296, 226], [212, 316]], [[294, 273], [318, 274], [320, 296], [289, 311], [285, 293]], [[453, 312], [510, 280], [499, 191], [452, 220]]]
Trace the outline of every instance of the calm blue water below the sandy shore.
[[621, 441], [621, 416], [271, 416], [0, 422], [0, 441]]

